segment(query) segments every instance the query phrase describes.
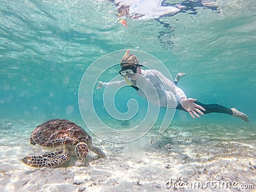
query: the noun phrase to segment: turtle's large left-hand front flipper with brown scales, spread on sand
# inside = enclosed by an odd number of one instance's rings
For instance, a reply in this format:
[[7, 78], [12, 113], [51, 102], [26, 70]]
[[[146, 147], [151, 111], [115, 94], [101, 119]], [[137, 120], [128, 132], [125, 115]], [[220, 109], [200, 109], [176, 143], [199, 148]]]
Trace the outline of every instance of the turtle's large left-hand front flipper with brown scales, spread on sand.
[[67, 162], [68, 159], [70, 159], [70, 154], [65, 151], [58, 150], [41, 156], [26, 156], [21, 159], [21, 161], [29, 166], [42, 168], [58, 166]]

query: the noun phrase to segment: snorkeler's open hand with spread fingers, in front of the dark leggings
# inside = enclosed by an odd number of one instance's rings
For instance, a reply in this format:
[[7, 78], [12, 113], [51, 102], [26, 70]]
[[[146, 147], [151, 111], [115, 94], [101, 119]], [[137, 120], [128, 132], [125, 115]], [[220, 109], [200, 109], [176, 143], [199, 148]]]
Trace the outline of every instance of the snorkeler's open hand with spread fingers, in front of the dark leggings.
[[[204, 115], [202, 111], [205, 111], [205, 109], [202, 106], [199, 106], [198, 104], [195, 104], [196, 99], [191, 98], [182, 98], [180, 99], [180, 105], [188, 111], [189, 115], [193, 118], [200, 117], [200, 115]], [[195, 115], [195, 116], [194, 116]]]

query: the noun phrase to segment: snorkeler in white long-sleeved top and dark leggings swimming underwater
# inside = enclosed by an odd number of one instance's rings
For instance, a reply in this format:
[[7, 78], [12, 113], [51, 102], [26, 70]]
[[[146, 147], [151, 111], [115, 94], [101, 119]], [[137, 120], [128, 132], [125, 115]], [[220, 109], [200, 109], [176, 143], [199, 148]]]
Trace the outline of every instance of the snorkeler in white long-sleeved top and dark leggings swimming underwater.
[[128, 83], [137, 91], [138, 95], [145, 97], [149, 102], [161, 108], [187, 111], [193, 118], [199, 118], [200, 115], [207, 113], [225, 113], [249, 122], [248, 116], [236, 108], [229, 109], [219, 104], [202, 104], [196, 99], [188, 98], [183, 90], [177, 86], [177, 82], [184, 74], [178, 74], [173, 83], [157, 70], [142, 69], [143, 65], [139, 64], [138, 58], [134, 54], [129, 54], [129, 51], [125, 53], [120, 65], [122, 69], [119, 74], [125, 79], [109, 83], [100, 81], [97, 89], [103, 86], [122, 87]]

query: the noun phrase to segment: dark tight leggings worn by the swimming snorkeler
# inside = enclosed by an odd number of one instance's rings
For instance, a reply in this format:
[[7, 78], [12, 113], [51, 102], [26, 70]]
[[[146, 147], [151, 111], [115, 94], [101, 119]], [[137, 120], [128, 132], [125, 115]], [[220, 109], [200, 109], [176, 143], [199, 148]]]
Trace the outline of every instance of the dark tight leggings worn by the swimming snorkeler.
[[[177, 81], [174, 81], [174, 84], [177, 85]], [[233, 111], [231, 109], [228, 109], [224, 106], [218, 105], [218, 104], [202, 104], [201, 102], [195, 101], [195, 104], [198, 104], [198, 106], [202, 106], [205, 111], [202, 111], [204, 114], [207, 113], [226, 113], [228, 115], [233, 115]], [[176, 107], [176, 109], [186, 111], [180, 104]], [[186, 111], [188, 112], [188, 111]]]

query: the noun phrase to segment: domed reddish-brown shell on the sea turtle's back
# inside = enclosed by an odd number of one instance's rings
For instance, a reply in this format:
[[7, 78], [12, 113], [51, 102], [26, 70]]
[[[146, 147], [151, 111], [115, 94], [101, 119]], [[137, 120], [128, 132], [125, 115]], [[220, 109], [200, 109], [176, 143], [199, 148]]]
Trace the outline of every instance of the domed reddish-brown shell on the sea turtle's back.
[[76, 145], [84, 141], [92, 147], [92, 138], [77, 124], [63, 119], [53, 119], [38, 125], [31, 132], [30, 143], [43, 147]]

